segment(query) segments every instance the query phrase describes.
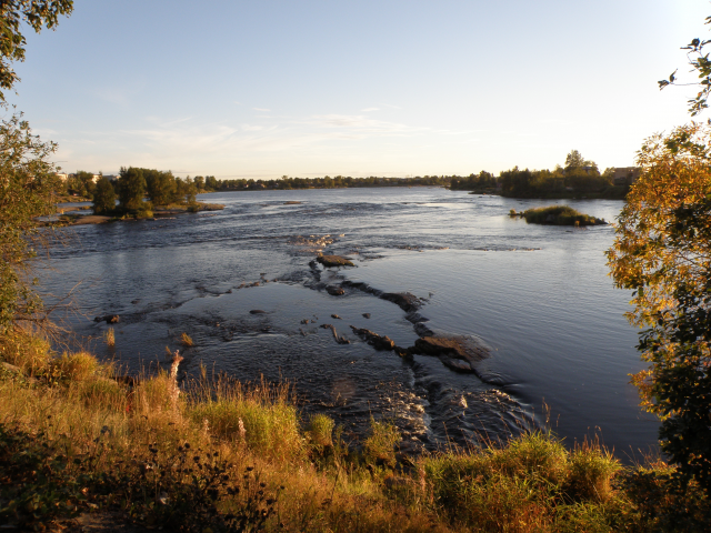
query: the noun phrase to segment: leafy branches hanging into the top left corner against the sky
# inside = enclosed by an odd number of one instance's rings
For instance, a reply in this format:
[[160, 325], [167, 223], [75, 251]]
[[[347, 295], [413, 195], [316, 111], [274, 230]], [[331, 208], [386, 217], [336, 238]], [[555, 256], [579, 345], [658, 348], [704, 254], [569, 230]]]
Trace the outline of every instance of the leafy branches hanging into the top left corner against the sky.
[[0, 100], [6, 90], [19, 81], [10, 67], [11, 61], [24, 61], [27, 43], [21, 33], [22, 23], [36, 32], [54, 29], [61, 14], [69, 16], [73, 0], [2, 0], [0, 1]]

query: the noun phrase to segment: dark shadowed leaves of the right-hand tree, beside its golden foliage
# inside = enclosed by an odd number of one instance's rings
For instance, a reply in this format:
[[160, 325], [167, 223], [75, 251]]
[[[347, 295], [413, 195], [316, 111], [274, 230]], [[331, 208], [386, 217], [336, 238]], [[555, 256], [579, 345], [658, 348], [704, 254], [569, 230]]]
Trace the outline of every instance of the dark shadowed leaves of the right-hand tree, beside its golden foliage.
[[[668, 242], [681, 251], [711, 241], [711, 197], [675, 209], [667, 223]], [[694, 254], [695, 252], [691, 252]], [[683, 481], [694, 479], [711, 494], [711, 264], [700, 279], [680, 281], [675, 305], [660, 311], [641, 335], [639, 349], [652, 366], [635, 376], [648, 409], [662, 419], [662, 451]], [[647, 378], [651, 378], [648, 380]]]

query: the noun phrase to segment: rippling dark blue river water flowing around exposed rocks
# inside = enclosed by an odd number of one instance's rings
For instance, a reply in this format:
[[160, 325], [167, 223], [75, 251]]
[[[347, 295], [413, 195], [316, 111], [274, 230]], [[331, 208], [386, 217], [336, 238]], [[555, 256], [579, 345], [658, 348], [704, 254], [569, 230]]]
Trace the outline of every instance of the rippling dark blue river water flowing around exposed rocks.
[[[638, 331], [623, 318], [630, 294], [607, 275], [611, 227], [527, 224], [509, 210], [554, 202], [440, 188], [199, 199], [226, 209], [62, 230], [72, 241], [53, 250], [42, 283], [53, 294], [79, 283], [79, 314], [68, 319], [78, 342], [130, 372], [167, 365], [168, 346], [181, 350], [188, 375], [203, 364], [243, 381], [287, 381], [304, 413], [326, 412], [354, 440], [371, 415], [394, 422], [405, 451], [505, 439], [547, 421], [568, 444], [599, 435], [623, 457], [654, 445], [658, 423], [629, 384], [642, 368]], [[565, 203], [605, 220], [622, 208]], [[314, 268], [319, 251], [356, 266]], [[410, 292], [430, 330], [482, 339], [491, 356], [481, 378], [364, 343], [350, 325], [401, 346], [418, 334], [394, 303], [353, 286], [340, 296], [324, 290], [346, 280]], [[108, 313], [120, 315], [114, 349], [100, 340], [108, 325], [91, 320]], [[193, 348], [181, 346], [183, 332]]]

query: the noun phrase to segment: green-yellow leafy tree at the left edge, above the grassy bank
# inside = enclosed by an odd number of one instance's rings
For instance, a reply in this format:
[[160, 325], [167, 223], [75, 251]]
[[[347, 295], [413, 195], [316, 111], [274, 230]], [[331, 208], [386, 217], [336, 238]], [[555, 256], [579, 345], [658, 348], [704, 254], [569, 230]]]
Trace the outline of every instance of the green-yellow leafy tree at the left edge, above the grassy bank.
[[0, 122], [0, 333], [36, 320], [42, 306], [28, 260], [47, 237], [36, 217], [56, 211], [60, 180], [49, 161], [56, 150], [53, 142], [32, 135], [21, 115]]

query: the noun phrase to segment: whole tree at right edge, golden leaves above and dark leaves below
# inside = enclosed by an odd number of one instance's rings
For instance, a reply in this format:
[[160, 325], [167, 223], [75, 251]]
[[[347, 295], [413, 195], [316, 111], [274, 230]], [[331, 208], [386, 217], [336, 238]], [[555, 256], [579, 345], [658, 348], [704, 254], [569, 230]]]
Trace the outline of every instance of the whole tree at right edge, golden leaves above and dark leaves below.
[[617, 286], [632, 290], [642, 406], [662, 420], [677, 475], [711, 494], [711, 127], [692, 123], [642, 145], [639, 180], [607, 252]]

